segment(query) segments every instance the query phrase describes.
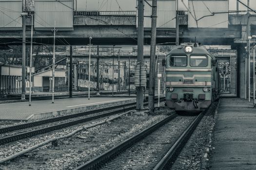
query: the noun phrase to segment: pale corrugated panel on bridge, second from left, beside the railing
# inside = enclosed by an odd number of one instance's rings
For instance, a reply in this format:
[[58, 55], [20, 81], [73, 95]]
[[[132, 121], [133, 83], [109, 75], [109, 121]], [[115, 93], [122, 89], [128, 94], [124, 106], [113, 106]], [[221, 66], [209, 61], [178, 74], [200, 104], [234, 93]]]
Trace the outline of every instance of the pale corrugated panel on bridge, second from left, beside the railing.
[[36, 30], [73, 30], [73, 0], [35, 0]]

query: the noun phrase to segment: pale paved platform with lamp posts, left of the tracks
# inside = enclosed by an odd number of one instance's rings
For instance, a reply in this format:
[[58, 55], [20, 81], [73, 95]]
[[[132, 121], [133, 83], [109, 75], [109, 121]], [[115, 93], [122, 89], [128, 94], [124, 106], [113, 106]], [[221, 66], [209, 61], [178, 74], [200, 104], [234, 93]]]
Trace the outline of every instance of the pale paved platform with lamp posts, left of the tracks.
[[67, 98], [34, 101], [31, 106], [28, 102], [15, 102], [0, 104], [0, 120], [33, 120], [56, 116], [61, 113], [81, 112], [84, 109], [135, 102], [136, 98], [128, 97], [95, 97], [95, 98]]

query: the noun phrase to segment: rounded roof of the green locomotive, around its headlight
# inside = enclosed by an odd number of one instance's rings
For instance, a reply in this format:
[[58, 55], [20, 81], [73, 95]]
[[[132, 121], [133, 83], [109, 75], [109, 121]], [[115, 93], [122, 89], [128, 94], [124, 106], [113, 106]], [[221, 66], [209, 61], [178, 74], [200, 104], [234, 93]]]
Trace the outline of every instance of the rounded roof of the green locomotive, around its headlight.
[[186, 46], [176, 46], [169, 54], [208, 54], [213, 59], [215, 59], [215, 57], [209, 51], [207, 51], [203, 46], [199, 46], [199, 47], [192, 46], [193, 48], [192, 52], [185, 52], [184, 49]]

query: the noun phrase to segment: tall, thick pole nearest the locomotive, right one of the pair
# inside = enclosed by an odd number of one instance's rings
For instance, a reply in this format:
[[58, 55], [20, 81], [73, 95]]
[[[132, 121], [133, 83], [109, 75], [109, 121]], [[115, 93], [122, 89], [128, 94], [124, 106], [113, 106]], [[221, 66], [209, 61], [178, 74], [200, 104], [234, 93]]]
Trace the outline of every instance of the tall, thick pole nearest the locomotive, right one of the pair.
[[151, 113], [155, 110], [155, 65], [156, 65], [156, 38], [157, 38], [157, 0], [152, 0], [151, 16], [151, 47], [150, 47], [150, 66], [149, 66], [149, 92], [148, 108]]

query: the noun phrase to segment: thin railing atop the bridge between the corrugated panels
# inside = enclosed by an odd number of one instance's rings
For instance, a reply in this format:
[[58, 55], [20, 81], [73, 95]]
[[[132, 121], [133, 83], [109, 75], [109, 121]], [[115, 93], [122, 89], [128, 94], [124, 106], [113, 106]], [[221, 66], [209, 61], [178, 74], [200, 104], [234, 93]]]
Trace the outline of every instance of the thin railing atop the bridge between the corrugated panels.
[[74, 11], [74, 16], [136, 16], [136, 11]]

